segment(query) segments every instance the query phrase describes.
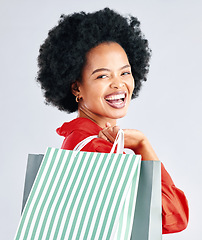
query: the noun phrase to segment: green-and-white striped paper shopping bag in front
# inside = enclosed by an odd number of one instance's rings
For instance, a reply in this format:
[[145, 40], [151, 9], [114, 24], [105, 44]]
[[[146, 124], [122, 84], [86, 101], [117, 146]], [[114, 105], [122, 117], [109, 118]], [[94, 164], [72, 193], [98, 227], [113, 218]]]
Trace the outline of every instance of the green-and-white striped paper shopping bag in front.
[[48, 148], [15, 239], [130, 239], [141, 157], [113, 153], [116, 141], [111, 153]]

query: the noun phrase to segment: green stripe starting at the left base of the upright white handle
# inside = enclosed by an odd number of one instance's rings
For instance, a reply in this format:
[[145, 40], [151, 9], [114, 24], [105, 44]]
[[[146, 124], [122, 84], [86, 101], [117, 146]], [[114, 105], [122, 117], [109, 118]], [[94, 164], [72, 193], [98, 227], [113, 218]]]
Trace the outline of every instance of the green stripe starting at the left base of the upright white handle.
[[[91, 213], [90, 213], [90, 217], [89, 217], [89, 220], [88, 220], [88, 223], [87, 223], [87, 227], [86, 227], [86, 231], [85, 231], [85, 234], [84, 234], [84, 238], [83, 238], [83, 239], [89, 239], [89, 238], [88, 238], [88, 233], [89, 233], [89, 230], [90, 230], [90, 225], [91, 225], [91, 223], [92, 223], [93, 215], [94, 215], [94, 213], [95, 213], [95, 208], [96, 208], [96, 206], [97, 206], [98, 199], [99, 199], [99, 197], [100, 197], [102, 188], [103, 188], [103, 186], [104, 186], [104, 182], [105, 182], [106, 177], [107, 177], [107, 173], [108, 173], [108, 171], [109, 171], [109, 169], [110, 169], [110, 166], [111, 166], [112, 161], [113, 161], [113, 159], [114, 159], [114, 157], [115, 157], [115, 154], [111, 154], [111, 158], [110, 158], [110, 159], [108, 158], [108, 157], [109, 157], [109, 154], [106, 153], [106, 156], [107, 156], [107, 159], [106, 159], [106, 160], [108, 160], [109, 162], [108, 162], [108, 164], [107, 164], [107, 167], [106, 167], [106, 170], [105, 170], [105, 172], [104, 172], [102, 181], [101, 181], [101, 183], [100, 183], [100, 186], [99, 186], [99, 189], [98, 189], [98, 192], [97, 192], [97, 195], [96, 195], [96, 198], [95, 198], [95, 201], [94, 201], [94, 204], [93, 204]], [[93, 239], [93, 238], [91, 238], [91, 239]]]

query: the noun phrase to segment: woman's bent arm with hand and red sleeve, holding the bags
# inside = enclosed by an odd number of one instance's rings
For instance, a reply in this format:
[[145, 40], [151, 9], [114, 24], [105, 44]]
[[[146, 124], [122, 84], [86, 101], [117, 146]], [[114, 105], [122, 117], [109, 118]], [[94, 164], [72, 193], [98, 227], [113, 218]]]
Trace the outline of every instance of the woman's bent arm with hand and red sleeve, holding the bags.
[[[113, 142], [119, 128], [106, 124], [99, 136]], [[144, 134], [138, 130], [124, 130], [124, 146], [132, 149], [136, 154], [142, 155], [142, 160], [159, 160], [151, 144]], [[162, 183], [162, 232], [180, 232], [187, 227], [189, 210], [184, 193], [178, 189], [168, 172], [161, 164]]]

